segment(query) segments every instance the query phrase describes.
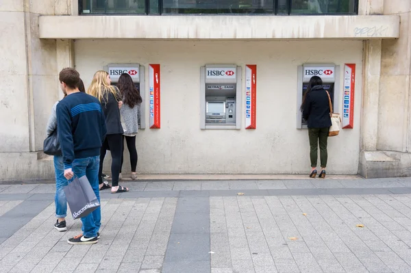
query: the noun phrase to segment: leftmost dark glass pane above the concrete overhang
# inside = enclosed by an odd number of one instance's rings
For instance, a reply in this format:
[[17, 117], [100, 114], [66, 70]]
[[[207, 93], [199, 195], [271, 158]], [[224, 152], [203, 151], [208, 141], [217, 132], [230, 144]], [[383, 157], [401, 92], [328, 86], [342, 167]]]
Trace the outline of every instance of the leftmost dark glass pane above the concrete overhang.
[[81, 0], [81, 13], [144, 14], [145, 0]]

